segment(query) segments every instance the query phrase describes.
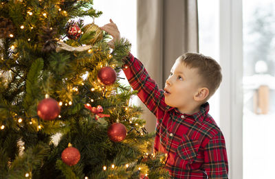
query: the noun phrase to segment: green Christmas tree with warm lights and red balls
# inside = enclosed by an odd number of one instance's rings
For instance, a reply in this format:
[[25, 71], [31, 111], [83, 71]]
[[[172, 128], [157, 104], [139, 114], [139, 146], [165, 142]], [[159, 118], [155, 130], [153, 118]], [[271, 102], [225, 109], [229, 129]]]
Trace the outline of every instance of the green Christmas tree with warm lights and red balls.
[[[2, 0], [0, 178], [167, 178], [136, 91], [131, 44], [107, 45], [91, 0]], [[54, 137], [58, 140], [53, 141]]]

